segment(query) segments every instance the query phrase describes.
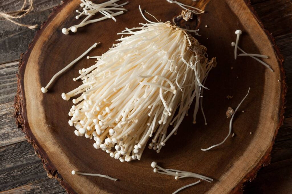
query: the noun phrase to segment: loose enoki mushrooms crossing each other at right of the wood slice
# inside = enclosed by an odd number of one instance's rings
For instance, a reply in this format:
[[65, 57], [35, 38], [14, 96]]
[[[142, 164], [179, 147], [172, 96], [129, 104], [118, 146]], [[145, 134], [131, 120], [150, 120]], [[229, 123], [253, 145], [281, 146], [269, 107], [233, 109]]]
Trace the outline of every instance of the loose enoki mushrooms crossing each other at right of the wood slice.
[[[267, 63], [263, 62], [262, 60], [256, 58], [256, 57], [260, 57], [260, 58], [268, 58], [267, 55], [261, 55], [261, 54], [249, 54], [246, 53], [244, 50], [242, 50], [239, 46], [238, 46], [238, 41], [239, 41], [239, 36], [242, 34], [241, 30], [237, 30], [235, 31], [236, 36], [236, 41], [235, 42], [231, 42], [231, 46], [234, 47], [234, 59], [237, 58], [237, 56], [250, 56], [251, 58], [257, 60], [258, 62], [260, 62], [261, 64], [265, 65], [267, 68], [269, 68], [272, 72], [272, 68], [270, 65], [268, 65]], [[239, 49], [241, 52], [243, 52], [243, 54], [239, 54], [237, 55], [237, 49]]]

